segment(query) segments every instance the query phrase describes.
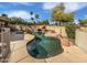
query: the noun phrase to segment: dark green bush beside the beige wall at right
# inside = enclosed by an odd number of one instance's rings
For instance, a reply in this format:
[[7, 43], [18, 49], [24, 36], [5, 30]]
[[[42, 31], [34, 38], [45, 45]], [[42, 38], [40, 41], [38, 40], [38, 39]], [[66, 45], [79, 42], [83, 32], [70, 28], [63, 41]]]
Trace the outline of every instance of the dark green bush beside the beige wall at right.
[[69, 39], [75, 39], [75, 30], [76, 30], [75, 24], [66, 25], [66, 33]]

